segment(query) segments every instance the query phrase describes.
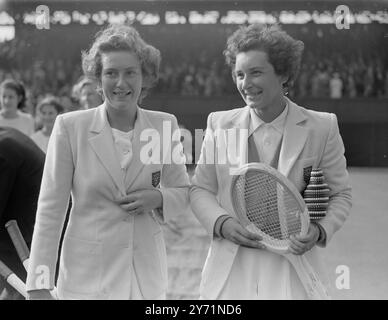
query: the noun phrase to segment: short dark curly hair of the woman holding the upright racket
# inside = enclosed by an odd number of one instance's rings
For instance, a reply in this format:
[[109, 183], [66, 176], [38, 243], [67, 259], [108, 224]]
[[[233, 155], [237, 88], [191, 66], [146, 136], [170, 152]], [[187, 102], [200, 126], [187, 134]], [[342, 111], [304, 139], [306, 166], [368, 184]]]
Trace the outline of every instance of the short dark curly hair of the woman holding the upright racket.
[[302, 41], [292, 38], [279, 25], [252, 24], [240, 27], [228, 38], [224, 51], [226, 63], [232, 68], [233, 80], [237, 54], [250, 50], [264, 51], [275, 73], [288, 78], [286, 86], [294, 83], [304, 50]]

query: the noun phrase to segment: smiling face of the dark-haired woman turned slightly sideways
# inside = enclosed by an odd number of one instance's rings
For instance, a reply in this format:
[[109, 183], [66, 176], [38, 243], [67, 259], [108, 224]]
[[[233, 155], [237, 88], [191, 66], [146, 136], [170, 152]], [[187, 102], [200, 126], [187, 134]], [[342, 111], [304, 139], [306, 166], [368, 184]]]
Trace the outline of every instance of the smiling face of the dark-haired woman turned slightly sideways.
[[283, 111], [283, 83], [286, 78], [275, 73], [264, 51], [238, 53], [234, 75], [237, 89], [245, 103], [255, 108], [263, 120], [266, 118], [272, 121]]

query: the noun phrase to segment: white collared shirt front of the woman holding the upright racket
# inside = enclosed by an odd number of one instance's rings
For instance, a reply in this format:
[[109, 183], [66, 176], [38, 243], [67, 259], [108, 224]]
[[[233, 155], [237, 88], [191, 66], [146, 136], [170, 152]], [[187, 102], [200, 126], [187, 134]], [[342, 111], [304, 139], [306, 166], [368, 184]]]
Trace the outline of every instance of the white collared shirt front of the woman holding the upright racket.
[[253, 134], [261, 162], [270, 164], [283, 139], [284, 126], [288, 113], [288, 102], [283, 112], [272, 122], [266, 123], [250, 109], [249, 135]]

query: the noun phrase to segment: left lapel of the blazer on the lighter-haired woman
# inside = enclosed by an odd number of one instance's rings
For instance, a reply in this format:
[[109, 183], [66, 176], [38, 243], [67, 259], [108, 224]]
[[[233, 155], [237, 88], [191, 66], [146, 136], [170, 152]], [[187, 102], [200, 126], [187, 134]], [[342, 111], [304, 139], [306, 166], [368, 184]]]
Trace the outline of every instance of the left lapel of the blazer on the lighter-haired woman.
[[119, 162], [116, 157], [112, 130], [108, 123], [104, 104], [95, 109], [94, 119], [90, 127], [90, 131], [93, 134], [89, 138], [89, 143], [92, 149], [97, 154], [97, 157], [100, 159], [109, 175], [112, 177], [120, 192], [124, 195], [125, 188], [123, 173], [121, 172]]

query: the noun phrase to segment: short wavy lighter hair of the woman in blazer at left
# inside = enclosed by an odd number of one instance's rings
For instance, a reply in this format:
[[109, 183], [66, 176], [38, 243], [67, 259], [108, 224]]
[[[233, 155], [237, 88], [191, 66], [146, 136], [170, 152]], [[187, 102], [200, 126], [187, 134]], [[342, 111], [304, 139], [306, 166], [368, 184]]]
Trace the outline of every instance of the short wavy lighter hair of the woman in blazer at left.
[[147, 44], [131, 26], [110, 25], [96, 34], [89, 51], [82, 52], [82, 68], [86, 77], [101, 85], [101, 54], [128, 51], [140, 61], [143, 75], [142, 97], [152, 88], [159, 78], [160, 51]]

